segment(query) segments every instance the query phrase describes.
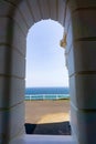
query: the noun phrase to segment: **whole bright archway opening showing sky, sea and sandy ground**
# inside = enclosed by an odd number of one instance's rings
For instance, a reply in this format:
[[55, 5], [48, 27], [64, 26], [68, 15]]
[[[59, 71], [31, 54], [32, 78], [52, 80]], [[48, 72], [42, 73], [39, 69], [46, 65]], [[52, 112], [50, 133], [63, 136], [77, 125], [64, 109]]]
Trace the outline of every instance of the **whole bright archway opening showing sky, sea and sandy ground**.
[[60, 47], [63, 31], [56, 21], [43, 20], [28, 34], [25, 126], [31, 134], [64, 134], [64, 122], [70, 120], [68, 74]]

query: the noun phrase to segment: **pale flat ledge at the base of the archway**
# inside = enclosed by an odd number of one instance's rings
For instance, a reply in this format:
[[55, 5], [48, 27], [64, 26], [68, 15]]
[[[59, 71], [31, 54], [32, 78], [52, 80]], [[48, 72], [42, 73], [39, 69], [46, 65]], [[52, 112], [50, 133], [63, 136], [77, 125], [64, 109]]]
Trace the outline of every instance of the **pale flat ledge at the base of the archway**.
[[75, 144], [72, 136], [57, 135], [23, 135], [18, 140], [13, 140], [10, 144]]

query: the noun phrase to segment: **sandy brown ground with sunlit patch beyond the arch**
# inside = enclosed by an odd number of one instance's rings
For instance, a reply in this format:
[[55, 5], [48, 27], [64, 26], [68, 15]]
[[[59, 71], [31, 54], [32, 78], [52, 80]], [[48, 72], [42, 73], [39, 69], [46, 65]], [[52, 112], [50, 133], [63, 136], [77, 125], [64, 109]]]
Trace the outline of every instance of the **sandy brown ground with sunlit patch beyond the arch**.
[[70, 100], [25, 101], [25, 123], [70, 121]]

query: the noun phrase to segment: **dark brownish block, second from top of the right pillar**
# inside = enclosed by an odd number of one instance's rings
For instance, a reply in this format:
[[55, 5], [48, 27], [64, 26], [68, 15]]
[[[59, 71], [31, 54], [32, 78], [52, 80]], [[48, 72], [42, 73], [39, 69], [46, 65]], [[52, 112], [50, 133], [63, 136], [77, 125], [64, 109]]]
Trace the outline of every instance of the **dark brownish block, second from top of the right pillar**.
[[75, 11], [72, 16], [74, 39], [96, 37], [96, 10]]

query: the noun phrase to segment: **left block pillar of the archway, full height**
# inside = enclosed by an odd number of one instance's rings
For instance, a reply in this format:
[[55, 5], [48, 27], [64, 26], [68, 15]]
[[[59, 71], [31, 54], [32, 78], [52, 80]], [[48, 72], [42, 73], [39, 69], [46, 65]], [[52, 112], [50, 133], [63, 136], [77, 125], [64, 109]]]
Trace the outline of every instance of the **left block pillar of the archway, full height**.
[[13, 17], [14, 9], [0, 1], [0, 144], [24, 134], [26, 35]]

